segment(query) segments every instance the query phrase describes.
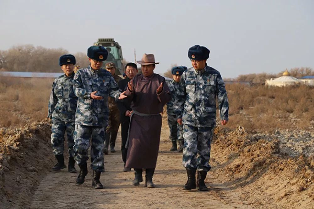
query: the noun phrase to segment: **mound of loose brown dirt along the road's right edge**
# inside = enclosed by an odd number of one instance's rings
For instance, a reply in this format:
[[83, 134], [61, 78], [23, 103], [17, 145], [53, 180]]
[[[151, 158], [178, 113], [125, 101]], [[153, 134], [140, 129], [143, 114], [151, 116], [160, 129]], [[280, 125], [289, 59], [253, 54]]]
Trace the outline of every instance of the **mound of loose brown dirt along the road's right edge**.
[[211, 171], [253, 206], [313, 208], [313, 155], [296, 159], [280, 147], [280, 140], [260, 139], [241, 127], [231, 132], [218, 127]]

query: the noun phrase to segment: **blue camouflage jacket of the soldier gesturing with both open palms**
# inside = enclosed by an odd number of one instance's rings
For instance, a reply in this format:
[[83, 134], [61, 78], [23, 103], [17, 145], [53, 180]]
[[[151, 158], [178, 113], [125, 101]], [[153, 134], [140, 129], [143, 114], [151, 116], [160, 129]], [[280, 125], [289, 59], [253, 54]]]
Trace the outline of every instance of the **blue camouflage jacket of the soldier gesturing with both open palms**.
[[[118, 100], [121, 93], [110, 72], [105, 69], [95, 71], [89, 65], [77, 71], [74, 81], [75, 94], [78, 96], [75, 124], [108, 126], [108, 96]], [[97, 91], [95, 95], [103, 99], [92, 99], [90, 93], [93, 91]]]

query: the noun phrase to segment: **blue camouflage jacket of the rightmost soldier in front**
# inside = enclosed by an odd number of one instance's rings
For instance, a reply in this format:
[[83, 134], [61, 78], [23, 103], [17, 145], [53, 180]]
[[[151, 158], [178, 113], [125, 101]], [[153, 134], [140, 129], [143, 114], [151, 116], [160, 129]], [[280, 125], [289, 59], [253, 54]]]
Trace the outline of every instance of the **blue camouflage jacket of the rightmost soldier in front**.
[[187, 69], [181, 76], [184, 96], [178, 96], [174, 107], [183, 124], [196, 127], [214, 126], [216, 123], [216, 97], [220, 118], [228, 120], [229, 103], [225, 83], [218, 71], [205, 66], [202, 71]]

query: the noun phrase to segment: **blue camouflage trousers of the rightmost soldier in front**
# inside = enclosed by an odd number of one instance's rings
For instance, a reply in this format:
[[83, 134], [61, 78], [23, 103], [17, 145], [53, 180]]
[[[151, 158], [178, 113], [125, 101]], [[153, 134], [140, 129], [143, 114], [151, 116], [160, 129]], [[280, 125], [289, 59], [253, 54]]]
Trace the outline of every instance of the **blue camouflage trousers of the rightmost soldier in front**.
[[195, 127], [184, 124], [182, 165], [187, 169], [209, 171], [210, 143], [213, 127]]

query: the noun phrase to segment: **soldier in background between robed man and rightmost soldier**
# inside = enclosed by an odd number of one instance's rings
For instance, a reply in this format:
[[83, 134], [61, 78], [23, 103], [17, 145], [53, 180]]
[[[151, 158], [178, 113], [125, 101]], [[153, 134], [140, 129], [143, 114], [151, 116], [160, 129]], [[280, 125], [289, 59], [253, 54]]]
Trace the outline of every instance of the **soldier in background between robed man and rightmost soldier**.
[[[187, 69], [185, 66], [175, 66], [171, 69], [172, 80], [166, 80], [168, 87], [171, 92], [171, 101], [167, 103], [167, 115], [168, 115], [168, 125], [170, 129], [170, 140], [172, 142], [172, 147], [170, 151], [177, 150], [177, 141], [179, 142], [179, 152], [183, 150], [183, 126], [178, 124], [176, 121], [176, 113], [174, 112], [174, 105], [176, 100], [176, 95], [180, 93], [182, 89], [182, 83], [180, 83], [182, 73]], [[181, 95], [182, 96], [182, 95]]]

